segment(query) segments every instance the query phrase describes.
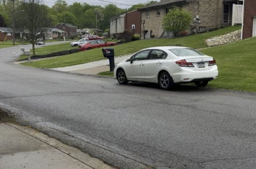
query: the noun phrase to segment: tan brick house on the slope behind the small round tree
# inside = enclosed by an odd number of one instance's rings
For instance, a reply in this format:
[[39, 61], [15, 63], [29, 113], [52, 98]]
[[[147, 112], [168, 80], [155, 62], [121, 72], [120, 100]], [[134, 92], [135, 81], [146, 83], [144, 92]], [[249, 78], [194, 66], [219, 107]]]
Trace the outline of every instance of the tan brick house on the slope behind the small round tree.
[[[173, 6], [179, 6], [192, 14], [191, 28], [189, 34], [201, 32], [212, 28], [221, 28], [242, 22], [242, 4], [240, 0], [165, 0], [154, 3], [151, 6], [140, 8], [141, 37], [149, 38], [152, 34], [155, 37], [172, 37], [172, 32], [163, 31], [162, 21], [165, 15]], [[234, 10], [234, 12], [233, 12]], [[236, 18], [235, 18], [235, 17]], [[235, 18], [235, 19], [233, 19]], [[232, 21], [233, 19], [233, 21]]]

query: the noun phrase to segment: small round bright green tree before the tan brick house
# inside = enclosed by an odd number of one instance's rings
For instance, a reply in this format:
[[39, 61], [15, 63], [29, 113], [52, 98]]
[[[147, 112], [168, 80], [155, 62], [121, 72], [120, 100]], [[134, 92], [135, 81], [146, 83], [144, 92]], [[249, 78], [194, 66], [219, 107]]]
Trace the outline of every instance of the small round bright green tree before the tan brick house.
[[190, 12], [179, 7], [174, 7], [169, 10], [169, 13], [163, 19], [163, 30], [173, 32], [174, 37], [177, 37], [179, 32], [190, 28], [192, 15]]

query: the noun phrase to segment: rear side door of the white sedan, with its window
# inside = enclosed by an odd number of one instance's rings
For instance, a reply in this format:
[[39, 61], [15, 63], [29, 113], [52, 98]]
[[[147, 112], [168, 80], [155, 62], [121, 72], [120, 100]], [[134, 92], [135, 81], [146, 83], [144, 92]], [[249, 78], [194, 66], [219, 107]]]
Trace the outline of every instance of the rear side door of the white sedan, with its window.
[[145, 80], [146, 81], [156, 81], [157, 74], [163, 65], [163, 61], [167, 54], [162, 50], [152, 50], [149, 55], [149, 59], [145, 63]]

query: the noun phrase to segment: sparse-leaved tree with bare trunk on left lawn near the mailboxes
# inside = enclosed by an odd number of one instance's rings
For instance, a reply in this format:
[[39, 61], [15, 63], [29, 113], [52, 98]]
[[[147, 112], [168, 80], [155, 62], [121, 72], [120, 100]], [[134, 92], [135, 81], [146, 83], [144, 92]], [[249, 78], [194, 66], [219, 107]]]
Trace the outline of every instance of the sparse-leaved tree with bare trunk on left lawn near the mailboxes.
[[32, 44], [35, 55], [35, 42], [44, 37], [48, 28], [51, 28], [51, 19], [48, 17], [48, 7], [42, 5], [41, 0], [24, 0], [17, 16], [17, 29], [24, 32], [24, 39]]

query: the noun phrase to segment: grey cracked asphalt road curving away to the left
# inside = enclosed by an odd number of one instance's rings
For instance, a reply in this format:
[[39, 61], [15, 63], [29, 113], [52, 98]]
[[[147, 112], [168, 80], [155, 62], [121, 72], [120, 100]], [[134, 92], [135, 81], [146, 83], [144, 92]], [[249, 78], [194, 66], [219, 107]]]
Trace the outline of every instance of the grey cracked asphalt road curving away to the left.
[[[26, 46], [26, 48], [28, 48]], [[0, 107], [118, 168], [256, 168], [256, 95], [24, 66], [0, 50]]]

